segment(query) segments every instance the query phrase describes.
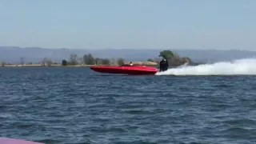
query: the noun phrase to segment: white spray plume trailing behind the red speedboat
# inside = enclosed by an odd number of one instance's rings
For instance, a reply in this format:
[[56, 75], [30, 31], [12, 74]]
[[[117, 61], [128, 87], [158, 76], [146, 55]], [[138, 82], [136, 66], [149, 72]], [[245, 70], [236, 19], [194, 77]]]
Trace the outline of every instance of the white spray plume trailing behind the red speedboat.
[[158, 72], [156, 75], [240, 75], [256, 74], [256, 58], [238, 59], [231, 62], [216, 62], [198, 66], [179, 66]]

